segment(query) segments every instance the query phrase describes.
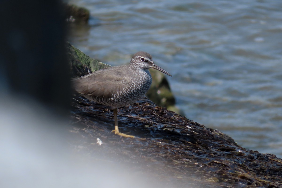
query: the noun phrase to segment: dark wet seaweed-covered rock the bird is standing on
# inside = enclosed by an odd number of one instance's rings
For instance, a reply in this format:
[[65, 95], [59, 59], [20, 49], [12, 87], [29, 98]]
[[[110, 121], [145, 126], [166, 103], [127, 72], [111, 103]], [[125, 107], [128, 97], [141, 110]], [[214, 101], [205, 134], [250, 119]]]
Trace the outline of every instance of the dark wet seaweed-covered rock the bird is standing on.
[[[282, 187], [280, 158], [240, 147], [230, 136], [147, 98], [118, 110], [120, 131], [134, 139], [111, 132], [109, 107], [78, 94], [71, 107], [69, 143], [77, 146], [75, 152], [127, 164], [164, 183], [162, 187]], [[97, 138], [102, 145], [96, 144]]]

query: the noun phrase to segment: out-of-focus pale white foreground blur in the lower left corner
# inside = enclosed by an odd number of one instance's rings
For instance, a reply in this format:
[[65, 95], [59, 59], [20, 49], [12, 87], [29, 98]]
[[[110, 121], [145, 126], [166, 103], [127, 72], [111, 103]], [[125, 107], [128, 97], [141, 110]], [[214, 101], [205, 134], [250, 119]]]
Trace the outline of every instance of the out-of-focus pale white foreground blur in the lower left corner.
[[42, 106], [0, 104], [0, 187], [163, 187], [122, 165], [76, 156], [65, 141], [67, 121]]

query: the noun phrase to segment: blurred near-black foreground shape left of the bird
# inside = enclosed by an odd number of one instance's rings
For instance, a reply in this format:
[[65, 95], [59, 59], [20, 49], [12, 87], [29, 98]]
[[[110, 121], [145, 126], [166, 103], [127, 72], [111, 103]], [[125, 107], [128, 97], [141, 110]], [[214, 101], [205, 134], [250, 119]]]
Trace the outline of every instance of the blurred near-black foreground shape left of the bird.
[[0, 95], [66, 114], [69, 69], [60, 1], [0, 1]]

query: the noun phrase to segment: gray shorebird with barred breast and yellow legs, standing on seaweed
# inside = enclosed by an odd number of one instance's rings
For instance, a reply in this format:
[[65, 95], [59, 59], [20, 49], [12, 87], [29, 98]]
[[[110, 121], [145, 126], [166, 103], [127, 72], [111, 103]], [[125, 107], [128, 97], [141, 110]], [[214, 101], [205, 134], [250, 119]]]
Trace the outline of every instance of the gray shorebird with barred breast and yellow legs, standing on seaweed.
[[137, 52], [129, 65], [115, 66], [97, 70], [72, 80], [74, 89], [85, 98], [102, 105], [114, 107], [112, 132], [120, 136], [134, 138], [118, 131], [118, 107], [134, 103], [150, 89], [152, 77], [149, 68], [157, 69], [169, 76], [167, 71], [158, 67], [147, 52]]

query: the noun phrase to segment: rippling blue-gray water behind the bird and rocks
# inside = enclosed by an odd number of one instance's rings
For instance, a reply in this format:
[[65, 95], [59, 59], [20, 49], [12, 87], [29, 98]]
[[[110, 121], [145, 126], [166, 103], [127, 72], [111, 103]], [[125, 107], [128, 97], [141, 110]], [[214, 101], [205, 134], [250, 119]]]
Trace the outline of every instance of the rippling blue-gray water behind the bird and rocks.
[[282, 157], [282, 1], [69, 2], [91, 12], [72, 45], [112, 66], [149, 52], [187, 118]]

